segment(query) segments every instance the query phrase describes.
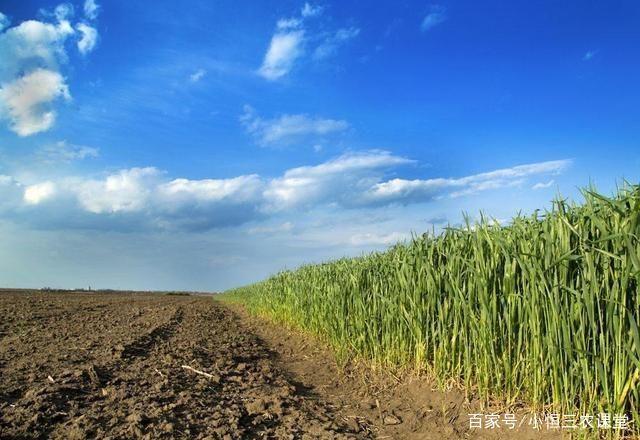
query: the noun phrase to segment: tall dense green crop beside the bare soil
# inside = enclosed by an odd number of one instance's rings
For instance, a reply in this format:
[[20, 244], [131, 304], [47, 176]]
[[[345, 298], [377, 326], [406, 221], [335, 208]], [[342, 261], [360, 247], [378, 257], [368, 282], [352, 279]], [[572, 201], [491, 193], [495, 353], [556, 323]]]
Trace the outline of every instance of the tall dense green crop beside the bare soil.
[[282, 272], [226, 299], [343, 358], [415, 368], [485, 400], [638, 421], [640, 186], [583, 195], [508, 225], [481, 218]]

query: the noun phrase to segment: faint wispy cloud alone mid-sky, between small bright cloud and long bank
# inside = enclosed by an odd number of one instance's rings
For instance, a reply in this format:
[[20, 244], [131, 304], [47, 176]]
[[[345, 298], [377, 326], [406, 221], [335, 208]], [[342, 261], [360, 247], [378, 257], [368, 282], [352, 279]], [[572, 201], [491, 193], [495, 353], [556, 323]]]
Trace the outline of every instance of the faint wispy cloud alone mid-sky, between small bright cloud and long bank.
[[311, 117], [305, 114], [263, 119], [250, 106], [244, 107], [240, 121], [261, 145], [288, 144], [309, 136], [326, 136], [349, 128], [346, 121]]

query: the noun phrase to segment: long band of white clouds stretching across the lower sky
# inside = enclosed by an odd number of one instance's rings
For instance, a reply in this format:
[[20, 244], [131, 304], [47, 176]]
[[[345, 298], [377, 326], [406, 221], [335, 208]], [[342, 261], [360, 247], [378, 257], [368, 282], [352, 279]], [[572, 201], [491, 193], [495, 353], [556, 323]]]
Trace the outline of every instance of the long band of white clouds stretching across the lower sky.
[[[154, 167], [123, 169], [102, 177], [24, 183], [3, 175], [0, 216], [49, 228], [119, 230], [134, 225], [135, 229], [188, 231], [273, 218], [275, 225], [254, 226], [249, 232], [284, 233], [293, 230], [283, 218], [287, 214], [316, 208], [332, 212], [375, 209], [459, 197], [520, 185], [533, 176], [557, 174], [570, 161], [533, 163], [458, 178], [385, 180], [389, 173], [413, 164], [415, 161], [388, 151], [371, 150], [291, 168], [275, 177], [250, 174], [225, 179], [168, 178]], [[16, 217], [19, 215], [23, 217]], [[344, 240], [364, 246], [401, 238], [389, 230], [356, 229]]]

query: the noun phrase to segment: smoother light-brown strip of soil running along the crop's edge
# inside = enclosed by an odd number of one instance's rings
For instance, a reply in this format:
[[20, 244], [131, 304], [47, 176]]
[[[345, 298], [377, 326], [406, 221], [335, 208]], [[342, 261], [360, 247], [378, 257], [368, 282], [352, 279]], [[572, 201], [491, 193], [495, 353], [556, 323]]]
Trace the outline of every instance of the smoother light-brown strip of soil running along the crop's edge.
[[[553, 440], [566, 432], [534, 430], [524, 410], [516, 412], [515, 429], [470, 429], [470, 414], [504, 414], [497, 407], [483, 408], [478, 399], [468, 401], [462, 390], [441, 390], [424, 377], [392, 372], [371, 372], [365, 365], [342, 368], [331, 349], [317, 338], [275, 324], [267, 317], [248, 313], [241, 305], [229, 307], [247, 324], [247, 330], [260, 337], [277, 354], [276, 365], [305, 387], [317, 390], [336, 414], [356, 430], [366, 430], [378, 439], [454, 440], [517, 439]], [[563, 436], [564, 434], [564, 436]]]

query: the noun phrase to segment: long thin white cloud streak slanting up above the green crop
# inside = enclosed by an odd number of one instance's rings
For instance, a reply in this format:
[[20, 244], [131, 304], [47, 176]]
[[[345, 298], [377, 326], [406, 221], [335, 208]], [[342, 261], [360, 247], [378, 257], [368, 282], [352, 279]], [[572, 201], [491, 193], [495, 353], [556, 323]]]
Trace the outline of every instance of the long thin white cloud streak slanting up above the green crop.
[[526, 177], [539, 174], [558, 174], [570, 165], [570, 160], [556, 160], [519, 165], [458, 179], [392, 179], [374, 185], [368, 198], [371, 202], [415, 203], [432, 200], [447, 193], [450, 197], [460, 197], [491, 189], [517, 186], [523, 183], [523, 179]]

